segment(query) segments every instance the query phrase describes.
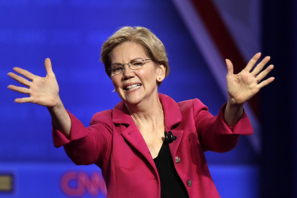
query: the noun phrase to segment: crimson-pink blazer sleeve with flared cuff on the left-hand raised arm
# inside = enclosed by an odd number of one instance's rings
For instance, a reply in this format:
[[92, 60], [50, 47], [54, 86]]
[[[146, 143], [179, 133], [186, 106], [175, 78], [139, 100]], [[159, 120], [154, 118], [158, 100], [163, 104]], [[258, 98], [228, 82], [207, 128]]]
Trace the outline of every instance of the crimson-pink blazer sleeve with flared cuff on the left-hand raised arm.
[[100, 122], [100, 113], [93, 115], [90, 126], [84, 125], [69, 111], [71, 129], [69, 139], [57, 129], [52, 128], [55, 147], [64, 146], [68, 157], [76, 165], [101, 164], [105, 154], [111, 145], [112, 130], [106, 124]]

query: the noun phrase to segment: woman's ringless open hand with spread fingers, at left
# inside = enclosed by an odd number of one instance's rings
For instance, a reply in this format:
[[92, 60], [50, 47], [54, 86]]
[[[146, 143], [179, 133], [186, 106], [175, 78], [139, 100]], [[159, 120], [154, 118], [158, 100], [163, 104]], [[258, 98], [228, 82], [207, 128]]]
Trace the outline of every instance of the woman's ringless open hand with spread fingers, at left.
[[52, 65], [49, 58], [45, 59], [44, 66], [46, 70], [45, 77], [34, 75], [29, 71], [19, 67], [13, 68], [15, 72], [24, 75], [26, 78], [32, 81], [29, 81], [22, 76], [16, 75], [15, 73], [8, 73], [11, 78], [28, 87], [25, 88], [15, 85], [8, 85], [8, 88], [19, 93], [26, 93], [30, 95], [30, 97], [16, 98], [15, 102], [32, 102], [47, 107], [55, 107], [61, 102], [59, 97], [58, 82], [52, 70]]

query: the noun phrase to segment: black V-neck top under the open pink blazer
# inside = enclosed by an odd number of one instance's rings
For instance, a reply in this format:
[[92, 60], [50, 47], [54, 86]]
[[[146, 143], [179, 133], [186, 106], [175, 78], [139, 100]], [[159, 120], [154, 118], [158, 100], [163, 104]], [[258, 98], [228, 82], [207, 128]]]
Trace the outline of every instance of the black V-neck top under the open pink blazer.
[[161, 198], [188, 198], [186, 187], [174, 168], [169, 144], [165, 141], [162, 144], [158, 156], [154, 158], [154, 162], [160, 177]]

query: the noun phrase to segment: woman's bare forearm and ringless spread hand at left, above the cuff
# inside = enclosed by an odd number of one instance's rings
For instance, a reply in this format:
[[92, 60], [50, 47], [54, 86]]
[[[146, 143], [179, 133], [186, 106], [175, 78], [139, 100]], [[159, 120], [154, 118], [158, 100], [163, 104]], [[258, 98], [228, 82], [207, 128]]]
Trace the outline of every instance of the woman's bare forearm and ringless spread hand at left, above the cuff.
[[71, 128], [71, 120], [59, 97], [58, 82], [52, 70], [49, 58], [45, 59], [44, 65], [46, 70], [45, 77], [34, 75], [19, 67], [14, 67], [13, 70], [15, 72], [23, 75], [29, 80], [13, 72], [9, 72], [8, 76], [25, 85], [27, 88], [15, 85], [8, 85], [8, 88], [19, 93], [29, 94], [29, 97], [16, 98], [15, 102], [17, 103], [32, 102], [46, 106], [52, 117], [54, 127], [68, 138]]

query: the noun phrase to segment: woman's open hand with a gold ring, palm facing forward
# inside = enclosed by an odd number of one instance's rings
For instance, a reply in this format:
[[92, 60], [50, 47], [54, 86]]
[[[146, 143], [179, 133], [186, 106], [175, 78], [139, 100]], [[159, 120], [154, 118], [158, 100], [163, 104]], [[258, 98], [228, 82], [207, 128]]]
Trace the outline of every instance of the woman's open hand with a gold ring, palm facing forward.
[[262, 87], [274, 80], [274, 77], [270, 77], [260, 82], [273, 69], [273, 65], [269, 65], [262, 71], [265, 64], [270, 60], [269, 56], [263, 58], [253, 71], [251, 71], [260, 56], [260, 52], [255, 54], [248, 62], [248, 65], [238, 74], [233, 74], [233, 64], [229, 59], [226, 59], [228, 70], [226, 76], [228, 100], [232, 104], [243, 104], [245, 101], [258, 93]]

